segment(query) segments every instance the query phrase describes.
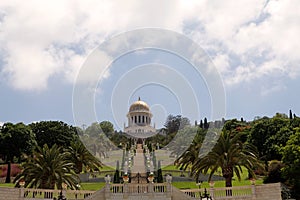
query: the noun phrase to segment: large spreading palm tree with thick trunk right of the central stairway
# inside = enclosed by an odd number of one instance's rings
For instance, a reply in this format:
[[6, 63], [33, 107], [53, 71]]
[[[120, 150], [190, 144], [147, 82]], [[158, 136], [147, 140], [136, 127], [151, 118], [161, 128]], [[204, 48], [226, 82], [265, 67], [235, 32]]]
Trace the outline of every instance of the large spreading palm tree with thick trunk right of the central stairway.
[[197, 158], [192, 166], [192, 174], [198, 177], [200, 173], [207, 174], [209, 172], [209, 180], [219, 168], [225, 178], [226, 187], [232, 186], [232, 177], [234, 174], [241, 179], [242, 166], [244, 166], [249, 174], [255, 177], [253, 169], [261, 167], [258, 161], [256, 148], [247, 143], [242, 143], [242, 132], [231, 134], [230, 131], [221, 132], [217, 144], [211, 152], [202, 158]]

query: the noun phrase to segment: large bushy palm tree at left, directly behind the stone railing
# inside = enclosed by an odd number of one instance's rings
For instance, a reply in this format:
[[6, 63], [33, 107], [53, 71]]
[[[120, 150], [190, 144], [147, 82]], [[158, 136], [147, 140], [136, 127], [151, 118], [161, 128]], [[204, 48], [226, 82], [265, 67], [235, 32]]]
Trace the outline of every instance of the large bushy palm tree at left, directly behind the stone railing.
[[79, 179], [69, 157], [70, 153], [56, 144], [51, 148], [47, 144], [37, 147], [31, 156], [26, 156], [23, 171], [14, 182], [18, 184], [24, 180], [25, 187], [30, 188], [62, 189], [62, 185], [66, 184], [75, 189]]

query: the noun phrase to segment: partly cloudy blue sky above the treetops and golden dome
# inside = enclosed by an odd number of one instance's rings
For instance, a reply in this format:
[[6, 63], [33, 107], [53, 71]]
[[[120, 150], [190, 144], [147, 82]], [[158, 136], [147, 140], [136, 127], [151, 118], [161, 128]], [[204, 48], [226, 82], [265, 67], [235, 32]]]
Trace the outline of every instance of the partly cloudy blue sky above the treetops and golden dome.
[[0, 124], [300, 115], [300, 1], [0, 2]]

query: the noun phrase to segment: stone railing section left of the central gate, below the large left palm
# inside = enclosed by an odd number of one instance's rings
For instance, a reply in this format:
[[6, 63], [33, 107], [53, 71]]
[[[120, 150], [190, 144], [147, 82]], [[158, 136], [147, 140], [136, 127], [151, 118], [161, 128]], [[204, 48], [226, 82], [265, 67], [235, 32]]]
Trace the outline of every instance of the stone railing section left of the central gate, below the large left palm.
[[95, 191], [87, 190], [46, 190], [33, 188], [20, 188], [20, 199], [58, 199], [63, 195], [68, 200], [85, 199], [92, 195]]

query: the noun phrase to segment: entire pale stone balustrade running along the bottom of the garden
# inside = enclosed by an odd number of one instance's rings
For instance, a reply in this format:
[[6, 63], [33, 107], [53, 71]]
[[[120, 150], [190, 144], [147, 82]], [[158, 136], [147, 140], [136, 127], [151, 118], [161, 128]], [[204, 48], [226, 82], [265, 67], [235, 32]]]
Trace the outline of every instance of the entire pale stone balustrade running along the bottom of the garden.
[[[102, 190], [46, 190], [33, 188], [0, 188], [0, 199], [5, 200], [38, 200], [57, 199], [60, 193], [67, 200], [98, 200], [98, 199], [157, 199], [157, 200], [183, 200], [201, 199], [205, 189], [185, 189], [173, 188], [171, 183], [148, 183], [148, 184], [109, 184]], [[281, 199], [280, 183], [238, 186], [230, 188], [208, 188], [207, 194], [215, 200], [279, 200]]]

